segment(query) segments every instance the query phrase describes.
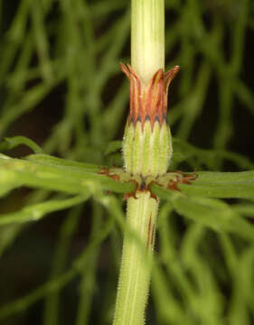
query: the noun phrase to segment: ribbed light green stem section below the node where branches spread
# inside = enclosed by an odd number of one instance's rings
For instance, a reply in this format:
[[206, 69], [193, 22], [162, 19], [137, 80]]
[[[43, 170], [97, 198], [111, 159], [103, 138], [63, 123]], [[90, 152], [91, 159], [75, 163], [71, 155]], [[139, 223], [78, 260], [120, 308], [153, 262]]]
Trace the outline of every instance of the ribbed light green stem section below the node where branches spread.
[[145, 323], [151, 274], [147, 257], [154, 250], [157, 209], [158, 201], [151, 198], [149, 191], [138, 191], [136, 199], [127, 200], [127, 230], [130, 231], [126, 230], [124, 238], [114, 325]]

